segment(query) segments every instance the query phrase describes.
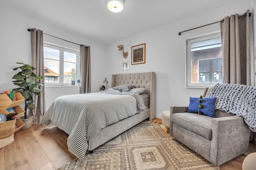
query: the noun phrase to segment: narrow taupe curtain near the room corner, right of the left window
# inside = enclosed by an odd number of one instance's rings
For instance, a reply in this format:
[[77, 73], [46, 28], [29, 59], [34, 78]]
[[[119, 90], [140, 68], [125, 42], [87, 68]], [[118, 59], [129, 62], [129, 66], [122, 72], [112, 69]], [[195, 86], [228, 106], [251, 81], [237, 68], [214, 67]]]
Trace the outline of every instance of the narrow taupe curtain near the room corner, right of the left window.
[[91, 92], [90, 46], [80, 45], [80, 94]]

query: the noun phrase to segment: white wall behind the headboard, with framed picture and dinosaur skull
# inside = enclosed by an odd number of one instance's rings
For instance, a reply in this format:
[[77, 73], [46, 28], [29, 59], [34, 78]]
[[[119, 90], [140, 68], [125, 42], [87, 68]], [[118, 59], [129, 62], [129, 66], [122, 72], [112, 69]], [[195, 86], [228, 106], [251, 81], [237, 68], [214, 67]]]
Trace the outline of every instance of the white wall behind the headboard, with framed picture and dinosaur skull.
[[[169, 110], [172, 105], [188, 105], [189, 97], [199, 97], [204, 89], [185, 88], [186, 39], [218, 31], [220, 25], [217, 23], [194, 29], [180, 36], [178, 32], [220, 21], [225, 16], [235, 13], [244, 14], [248, 9], [252, 10], [250, 0], [237, 0], [228, 5], [108, 45], [107, 78], [110, 80], [110, 73], [156, 72], [156, 117], [158, 118], [161, 118], [162, 111]], [[122, 61], [127, 59], [122, 57], [117, 45], [124, 45], [124, 51], [128, 51], [128, 59], [131, 63], [131, 47], [142, 43], [146, 43], [146, 64], [130, 65], [130, 70], [122, 70]]]

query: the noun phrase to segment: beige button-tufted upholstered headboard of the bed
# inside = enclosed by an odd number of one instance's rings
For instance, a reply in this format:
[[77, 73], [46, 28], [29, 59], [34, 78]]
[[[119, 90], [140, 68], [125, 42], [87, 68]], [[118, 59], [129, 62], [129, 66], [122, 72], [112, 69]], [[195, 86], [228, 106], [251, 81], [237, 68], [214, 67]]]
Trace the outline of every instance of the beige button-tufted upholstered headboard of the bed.
[[156, 98], [156, 73], [155, 72], [139, 72], [128, 74], [112, 74], [111, 87], [118, 85], [134, 85], [137, 88], [145, 88], [146, 94], [150, 95], [150, 116], [149, 119], [155, 118], [155, 98]]

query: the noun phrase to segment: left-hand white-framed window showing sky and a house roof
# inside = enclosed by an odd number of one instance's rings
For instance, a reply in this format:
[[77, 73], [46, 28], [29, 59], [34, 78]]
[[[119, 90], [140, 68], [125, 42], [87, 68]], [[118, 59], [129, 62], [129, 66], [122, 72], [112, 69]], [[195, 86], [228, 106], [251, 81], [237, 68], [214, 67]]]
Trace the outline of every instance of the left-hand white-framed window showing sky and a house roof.
[[44, 43], [46, 86], [70, 86], [80, 76], [80, 51]]

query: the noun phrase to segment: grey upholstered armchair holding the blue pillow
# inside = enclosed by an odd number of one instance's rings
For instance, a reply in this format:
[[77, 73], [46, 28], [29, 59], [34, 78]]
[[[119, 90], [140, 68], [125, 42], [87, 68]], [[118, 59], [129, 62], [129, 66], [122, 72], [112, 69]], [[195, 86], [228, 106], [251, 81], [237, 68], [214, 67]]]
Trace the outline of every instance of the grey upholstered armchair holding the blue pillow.
[[[206, 88], [203, 97], [209, 95]], [[186, 106], [170, 107], [170, 135], [219, 166], [248, 150], [250, 128], [243, 117], [215, 110], [215, 118], [187, 113]]]

